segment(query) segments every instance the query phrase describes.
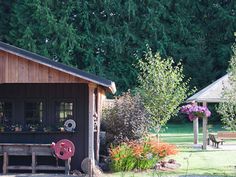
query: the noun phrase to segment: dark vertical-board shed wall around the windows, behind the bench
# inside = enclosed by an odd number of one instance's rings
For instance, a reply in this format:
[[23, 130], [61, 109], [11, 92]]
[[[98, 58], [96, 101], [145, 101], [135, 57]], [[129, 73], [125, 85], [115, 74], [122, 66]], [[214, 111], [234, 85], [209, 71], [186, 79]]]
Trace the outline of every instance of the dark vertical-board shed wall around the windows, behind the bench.
[[0, 100], [13, 103], [12, 122], [24, 124], [24, 101], [46, 103], [45, 125], [55, 125], [55, 101], [73, 100], [76, 131], [74, 133], [0, 133], [1, 143], [52, 143], [66, 138], [75, 144], [72, 169], [80, 169], [88, 155], [88, 85], [87, 84], [0, 84]]

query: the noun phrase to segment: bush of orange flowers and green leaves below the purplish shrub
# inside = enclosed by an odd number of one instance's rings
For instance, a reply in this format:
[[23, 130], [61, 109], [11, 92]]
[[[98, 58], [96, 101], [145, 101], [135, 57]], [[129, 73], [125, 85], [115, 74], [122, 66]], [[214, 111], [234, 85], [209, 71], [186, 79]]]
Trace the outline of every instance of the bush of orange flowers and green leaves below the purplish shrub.
[[176, 146], [156, 141], [132, 141], [110, 148], [113, 171], [145, 170], [169, 155], [177, 153]]

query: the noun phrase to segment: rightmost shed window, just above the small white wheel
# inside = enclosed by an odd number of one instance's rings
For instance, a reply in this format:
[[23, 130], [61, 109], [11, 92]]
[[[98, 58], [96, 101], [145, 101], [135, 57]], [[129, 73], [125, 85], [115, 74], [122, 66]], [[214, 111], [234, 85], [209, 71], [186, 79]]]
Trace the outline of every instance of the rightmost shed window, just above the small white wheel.
[[56, 102], [56, 117], [59, 122], [64, 122], [67, 119], [73, 119], [73, 102], [57, 101]]

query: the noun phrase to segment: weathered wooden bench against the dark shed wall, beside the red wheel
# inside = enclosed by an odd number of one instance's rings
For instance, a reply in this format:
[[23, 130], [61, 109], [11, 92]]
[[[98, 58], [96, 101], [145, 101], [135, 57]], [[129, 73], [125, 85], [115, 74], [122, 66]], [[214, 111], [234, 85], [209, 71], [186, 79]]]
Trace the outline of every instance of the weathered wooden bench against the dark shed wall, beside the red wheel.
[[[65, 166], [37, 165], [37, 156], [53, 156], [50, 146], [50, 144], [0, 143], [3, 174], [6, 174], [8, 170], [32, 170], [32, 173], [36, 173], [37, 170], [54, 170], [65, 171], [65, 174], [69, 174], [71, 159], [65, 161]], [[31, 165], [9, 165], [9, 156], [31, 156]]]

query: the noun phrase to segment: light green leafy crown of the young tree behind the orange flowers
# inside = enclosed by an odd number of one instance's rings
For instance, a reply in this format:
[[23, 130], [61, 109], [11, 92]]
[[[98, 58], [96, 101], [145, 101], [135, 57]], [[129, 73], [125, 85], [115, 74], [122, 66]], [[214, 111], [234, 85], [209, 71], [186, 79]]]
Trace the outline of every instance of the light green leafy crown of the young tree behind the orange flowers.
[[144, 107], [150, 114], [152, 127], [167, 123], [178, 112], [178, 106], [189, 95], [188, 81], [184, 81], [181, 63], [175, 65], [172, 58], [162, 59], [153, 55], [150, 48], [144, 60], [139, 60], [140, 93]]

